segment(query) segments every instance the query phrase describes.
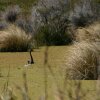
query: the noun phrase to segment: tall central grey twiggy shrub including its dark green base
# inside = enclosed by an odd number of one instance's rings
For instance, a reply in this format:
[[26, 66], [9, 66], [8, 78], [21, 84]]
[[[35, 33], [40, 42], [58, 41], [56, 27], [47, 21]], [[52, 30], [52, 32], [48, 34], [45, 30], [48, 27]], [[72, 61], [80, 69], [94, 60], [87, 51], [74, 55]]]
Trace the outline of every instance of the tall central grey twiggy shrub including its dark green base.
[[72, 42], [71, 34], [66, 32], [69, 24], [66, 5], [67, 0], [40, 0], [33, 7], [34, 37], [39, 45], [65, 45]]

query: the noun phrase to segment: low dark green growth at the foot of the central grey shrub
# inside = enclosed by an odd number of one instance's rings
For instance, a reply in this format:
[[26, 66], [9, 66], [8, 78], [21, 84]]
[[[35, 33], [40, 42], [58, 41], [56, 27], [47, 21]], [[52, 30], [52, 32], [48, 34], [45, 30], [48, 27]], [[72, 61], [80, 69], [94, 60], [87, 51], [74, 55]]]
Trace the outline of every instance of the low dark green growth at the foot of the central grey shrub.
[[72, 35], [53, 26], [42, 26], [34, 35], [38, 45], [66, 45], [72, 42]]

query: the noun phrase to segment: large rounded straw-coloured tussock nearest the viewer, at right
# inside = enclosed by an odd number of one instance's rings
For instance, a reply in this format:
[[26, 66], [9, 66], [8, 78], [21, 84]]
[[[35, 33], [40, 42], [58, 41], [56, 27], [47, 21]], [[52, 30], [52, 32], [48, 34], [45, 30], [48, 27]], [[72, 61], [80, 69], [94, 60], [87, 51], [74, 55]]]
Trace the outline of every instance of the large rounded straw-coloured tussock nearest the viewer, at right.
[[69, 79], [97, 79], [98, 48], [95, 43], [75, 43], [66, 59]]

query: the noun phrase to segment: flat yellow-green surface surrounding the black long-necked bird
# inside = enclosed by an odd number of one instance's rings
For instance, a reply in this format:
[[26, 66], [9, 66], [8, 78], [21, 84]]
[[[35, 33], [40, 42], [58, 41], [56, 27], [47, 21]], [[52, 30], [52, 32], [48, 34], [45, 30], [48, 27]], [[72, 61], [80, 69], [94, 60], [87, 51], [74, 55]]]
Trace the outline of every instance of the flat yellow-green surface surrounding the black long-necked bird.
[[[50, 70], [46, 68], [47, 74], [47, 94], [48, 100], [54, 99], [55, 92], [58, 87], [63, 91], [64, 75], [65, 75], [65, 56], [68, 56], [68, 50], [70, 46], [51, 46], [48, 49], [48, 64], [51, 66], [54, 76], [50, 73]], [[45, 95], [45, 75], [44, 75], [44, 59], [45, 59], [45, 47], [35, 49], [32, 52], [35, 64], [29, 68], [25, 68], [29, 58], [28, 52], [22, 53], [0, 53], [0, 94], [4, 92], [5, 84], [8, 82], [8, 86], [11, 87], [18, 100], [21, 100], [20, 91], [16, 89], [16, 85], [23, 87], [23, 72], [26, 71], [27, 84], [29, 89], [29, 96], [31, 100], [39, 100], [40, 97]], [[46, 66], [47, 67], [47, 66]], [[8, 75], [9, 74], [9, 75]], [[8, 77], [9, 76], [9, 77]], [[55, 78], [54, 78], [55, 77]], [[81, 81], [82, 90], [87, 92], [84, 99], [81, 100], [95, 100], [96, 93], [96, 81]], [[67, 81], [67, 86], [64, 88], [67, 94], [68, 89], [73, 91], [75, 96], [75, 83], [74, 81]], [[68, 96], [65, 96], [65, 100]]]

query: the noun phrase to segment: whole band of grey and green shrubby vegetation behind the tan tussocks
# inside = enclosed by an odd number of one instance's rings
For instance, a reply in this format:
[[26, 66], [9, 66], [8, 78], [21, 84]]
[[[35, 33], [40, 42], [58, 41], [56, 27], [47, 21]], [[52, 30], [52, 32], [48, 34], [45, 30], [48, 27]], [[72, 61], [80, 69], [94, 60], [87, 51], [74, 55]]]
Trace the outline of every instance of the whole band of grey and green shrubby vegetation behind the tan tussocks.
[[[0, 27], [15, 24], [34, 38], [35, 45], [67, 45], [74, 29], [99, 20], [99, 0], [0, 1]], [[8, 4], [7, 4], [8, 3]], [[15, 4], [14, 4], [15, 3]]]

